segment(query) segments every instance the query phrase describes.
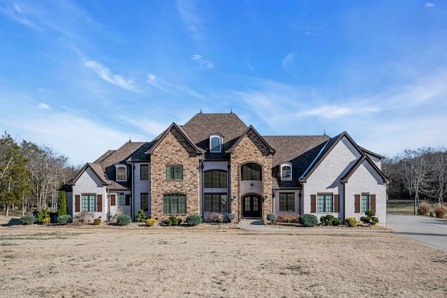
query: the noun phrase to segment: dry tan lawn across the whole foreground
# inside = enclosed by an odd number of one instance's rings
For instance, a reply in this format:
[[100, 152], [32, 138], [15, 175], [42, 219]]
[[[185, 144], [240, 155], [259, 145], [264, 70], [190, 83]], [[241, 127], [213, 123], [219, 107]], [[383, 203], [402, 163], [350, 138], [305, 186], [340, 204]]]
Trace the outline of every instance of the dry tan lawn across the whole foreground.
[[445, 297], [447, 254], [386, 231], [0, 227], [2, 297]]

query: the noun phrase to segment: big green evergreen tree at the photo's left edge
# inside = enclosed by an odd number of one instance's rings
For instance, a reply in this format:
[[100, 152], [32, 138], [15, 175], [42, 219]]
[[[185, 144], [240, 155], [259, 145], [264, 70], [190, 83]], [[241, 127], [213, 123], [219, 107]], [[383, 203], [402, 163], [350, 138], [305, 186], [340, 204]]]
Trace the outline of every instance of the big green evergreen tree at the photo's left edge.
[[22, 204], [24, 197], [29, 195], [31, 173], [19, 145], [6, 132], [0, 139], [0, 154], [0, 203], [6, 207], [6, 216], [9, 216], [10, 205]]

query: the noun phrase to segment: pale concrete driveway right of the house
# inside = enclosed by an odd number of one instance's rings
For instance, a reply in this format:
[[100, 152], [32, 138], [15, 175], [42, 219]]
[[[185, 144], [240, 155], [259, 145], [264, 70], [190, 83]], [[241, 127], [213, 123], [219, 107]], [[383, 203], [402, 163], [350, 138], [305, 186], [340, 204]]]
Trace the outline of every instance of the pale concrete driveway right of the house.
[[396, 234], [447, 250], [447, 221], [417, 215], [388, 215], [387, 226]]

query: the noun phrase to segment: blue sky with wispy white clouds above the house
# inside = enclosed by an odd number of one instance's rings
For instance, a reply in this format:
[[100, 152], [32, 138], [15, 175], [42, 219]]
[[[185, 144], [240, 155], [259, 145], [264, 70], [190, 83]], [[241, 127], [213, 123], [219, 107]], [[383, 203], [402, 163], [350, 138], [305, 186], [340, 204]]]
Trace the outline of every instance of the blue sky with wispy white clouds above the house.
[[261, 135], [447, 145], [446, 1], [0, 0], [1, 131], [73, 165], [233, 110]]

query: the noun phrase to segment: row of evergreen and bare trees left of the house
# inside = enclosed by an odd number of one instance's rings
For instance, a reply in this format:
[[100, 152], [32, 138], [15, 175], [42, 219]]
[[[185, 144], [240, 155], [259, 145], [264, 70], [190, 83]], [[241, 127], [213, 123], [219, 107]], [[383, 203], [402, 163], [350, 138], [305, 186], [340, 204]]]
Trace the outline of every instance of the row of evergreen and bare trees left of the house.
[[80, 167], [50, 147], [23, 140], [17, 144], [4, 133], [0, 139], [0, 208], [22, 208], [22, 214], [57, 202], [58, 191]]

